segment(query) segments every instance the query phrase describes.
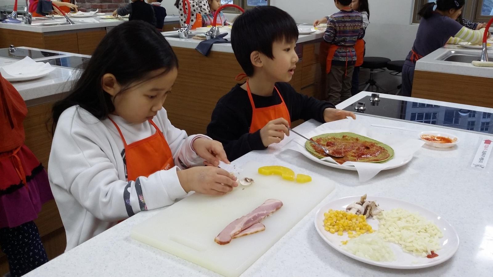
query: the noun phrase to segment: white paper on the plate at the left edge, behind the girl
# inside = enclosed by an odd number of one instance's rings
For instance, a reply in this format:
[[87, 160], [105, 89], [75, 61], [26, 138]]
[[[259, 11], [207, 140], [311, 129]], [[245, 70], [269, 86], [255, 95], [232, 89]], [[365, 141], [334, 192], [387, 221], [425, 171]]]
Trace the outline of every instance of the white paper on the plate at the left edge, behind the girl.
[[28, 77], [49, 72], [54, 68], [48, 63], [35, 62], [30, 57], [26, 57], [18, 62], [1, 67], [5, 78]]

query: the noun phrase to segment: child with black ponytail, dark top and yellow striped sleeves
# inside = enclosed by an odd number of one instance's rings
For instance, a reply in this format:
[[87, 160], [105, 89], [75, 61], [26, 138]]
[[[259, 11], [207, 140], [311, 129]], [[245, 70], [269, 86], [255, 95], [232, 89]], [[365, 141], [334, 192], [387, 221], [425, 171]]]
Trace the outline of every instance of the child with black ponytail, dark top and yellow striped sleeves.
[[418, 34], [402, 67], [403, 96], [411, 96], [416, 61], [443, 47], [451, 36], [472, 43], [481, 42], [484, 31], [470, 30], [456, 21], [464, 3], [465, 0], [437, 0], [435, 11], [435, 3], [427, 3], [419, 11], [422, 19]]

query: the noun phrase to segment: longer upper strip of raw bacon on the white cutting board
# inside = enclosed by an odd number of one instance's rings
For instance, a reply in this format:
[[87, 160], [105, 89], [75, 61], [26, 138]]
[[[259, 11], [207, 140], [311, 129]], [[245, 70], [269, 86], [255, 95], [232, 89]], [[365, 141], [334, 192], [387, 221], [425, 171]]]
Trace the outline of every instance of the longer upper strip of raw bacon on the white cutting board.
[[228, 244], [232, 238], [240, 234], [243, 230], [246, 231], [250, 226], [259, 223], [267, 216], [274, 213], [282, 207], [282, 202], [276, 199], [268, 199], [262, 205], [255, 208], [253, 211], [244, 215], [235, 221], [231, 222], [224, 230], [215, 237], [214, 242], [218, 244]]

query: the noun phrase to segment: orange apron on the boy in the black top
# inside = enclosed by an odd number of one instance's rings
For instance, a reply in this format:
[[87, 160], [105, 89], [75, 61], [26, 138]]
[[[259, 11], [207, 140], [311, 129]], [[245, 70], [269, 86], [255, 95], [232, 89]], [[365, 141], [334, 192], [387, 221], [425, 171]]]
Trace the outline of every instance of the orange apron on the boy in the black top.
[[291, 127], [291, 117], [289, 116], [289, 111], [287, 110], [287, 106], [284, 103], [284, 99], [281, 96], [281, 93], [274, 86], [279, 97], [281, 98], [282, 103], [263, 107], [263, 108], [255, 108], [255, 104], [253, 103], [253, 98], [251, 97], [250, 86], [248, 85], [248, 80], [246, 81], [246, 92], [248, 93], [248, 98], [250, 99], [252, 114], [251, 114], [251, 124], [250, 124], [250, 134], [257, 132], [258, 130], [264, 128], [269, 121], [284, 118], [289, 122], [289, 126]]

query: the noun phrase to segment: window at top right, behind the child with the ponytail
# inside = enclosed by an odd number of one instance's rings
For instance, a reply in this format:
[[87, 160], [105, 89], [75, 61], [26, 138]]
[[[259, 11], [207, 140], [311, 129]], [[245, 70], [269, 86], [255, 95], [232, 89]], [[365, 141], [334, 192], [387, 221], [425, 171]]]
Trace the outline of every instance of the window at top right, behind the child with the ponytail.
[[[425, 3], [435, 0], [414, 0], [413, 23], [420, 23], [418, 11]], [[462, 17], [472, 22], [488, 22], [493, 16], [493, 0], [466, 0]]]

